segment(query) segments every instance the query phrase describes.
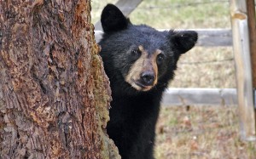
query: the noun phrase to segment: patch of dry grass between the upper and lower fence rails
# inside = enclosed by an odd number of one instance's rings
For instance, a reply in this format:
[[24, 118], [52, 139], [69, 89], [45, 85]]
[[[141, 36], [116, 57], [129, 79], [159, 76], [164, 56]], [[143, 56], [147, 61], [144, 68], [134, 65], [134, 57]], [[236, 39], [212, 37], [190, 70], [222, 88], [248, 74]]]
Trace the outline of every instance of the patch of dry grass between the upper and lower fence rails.
[[232, 48], [193, 48], [178, 62], [172, 88], [236, 88]]

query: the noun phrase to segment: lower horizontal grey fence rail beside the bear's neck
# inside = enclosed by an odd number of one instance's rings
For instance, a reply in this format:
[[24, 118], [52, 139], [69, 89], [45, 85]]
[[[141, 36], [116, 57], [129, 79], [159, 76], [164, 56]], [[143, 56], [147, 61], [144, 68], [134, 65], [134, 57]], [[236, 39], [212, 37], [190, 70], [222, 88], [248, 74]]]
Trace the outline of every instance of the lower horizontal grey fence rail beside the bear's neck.
[[168, 88], [162, 105], [237, 105], [236, 88]]

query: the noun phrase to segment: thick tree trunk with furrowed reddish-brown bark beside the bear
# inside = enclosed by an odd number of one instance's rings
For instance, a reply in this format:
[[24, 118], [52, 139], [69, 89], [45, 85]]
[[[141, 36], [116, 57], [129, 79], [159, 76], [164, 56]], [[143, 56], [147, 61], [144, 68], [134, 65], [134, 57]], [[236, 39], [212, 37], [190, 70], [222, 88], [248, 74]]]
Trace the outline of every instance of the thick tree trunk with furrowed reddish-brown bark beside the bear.
[[90, 0], [0, 1], [0, 158], [119, 158]]

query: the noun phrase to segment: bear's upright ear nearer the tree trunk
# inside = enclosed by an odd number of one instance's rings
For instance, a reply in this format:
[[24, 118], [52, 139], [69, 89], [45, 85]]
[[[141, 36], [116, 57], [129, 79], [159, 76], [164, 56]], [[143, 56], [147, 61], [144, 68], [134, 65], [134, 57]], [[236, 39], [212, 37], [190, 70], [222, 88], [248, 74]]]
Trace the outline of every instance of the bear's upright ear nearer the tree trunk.
[[129, 23], [125, 15], [113, 4], [108, 4], [102, 10], [101, 21], [104, 32], [123, 30]]

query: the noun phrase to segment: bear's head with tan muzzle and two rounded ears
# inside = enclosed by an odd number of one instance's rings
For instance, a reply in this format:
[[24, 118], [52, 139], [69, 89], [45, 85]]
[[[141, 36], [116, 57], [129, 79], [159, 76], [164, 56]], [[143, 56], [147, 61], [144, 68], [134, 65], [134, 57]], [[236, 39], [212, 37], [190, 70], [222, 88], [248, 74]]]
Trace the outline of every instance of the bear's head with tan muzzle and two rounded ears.
[[197, 41], [195, 31], [157, 31], [146, 25], [132, 25], [113, 4], [103, 9], [101, 21], [104, 35], [100, 54], [114, 91], [166, 88], [180, 55]]

